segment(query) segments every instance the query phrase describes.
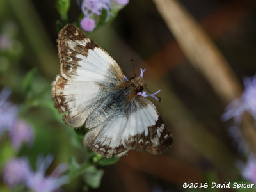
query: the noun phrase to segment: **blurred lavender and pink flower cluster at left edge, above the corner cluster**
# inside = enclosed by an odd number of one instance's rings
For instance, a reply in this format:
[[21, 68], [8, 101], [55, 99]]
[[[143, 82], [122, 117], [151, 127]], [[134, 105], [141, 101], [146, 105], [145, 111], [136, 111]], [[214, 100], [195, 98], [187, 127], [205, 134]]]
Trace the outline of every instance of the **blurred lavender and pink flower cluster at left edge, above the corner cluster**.
[[0, 93], [0, 135], [7, 132], [13, 148], [19, 149], [22, 143], [33, 143], [33, 129], [24, 120], [18, 118], [18, 108], [8, 102], [10, 90], [4, 88]]

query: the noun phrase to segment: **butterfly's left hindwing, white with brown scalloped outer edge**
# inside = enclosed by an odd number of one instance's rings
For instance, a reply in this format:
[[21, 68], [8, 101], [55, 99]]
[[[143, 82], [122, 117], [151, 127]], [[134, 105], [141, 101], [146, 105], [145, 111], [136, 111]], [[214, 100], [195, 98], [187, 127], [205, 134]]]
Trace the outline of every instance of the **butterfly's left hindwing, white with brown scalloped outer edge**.
[[[94, 82], [69, 80], [58, 76], [52, 85], [52, 98], [59, 113], [70, 127], [81, 127], [90, 113], [97, 107], [95, 103], [104, 97], [102, 90]], [[90, 90], [86, 92], [86, 90]]]

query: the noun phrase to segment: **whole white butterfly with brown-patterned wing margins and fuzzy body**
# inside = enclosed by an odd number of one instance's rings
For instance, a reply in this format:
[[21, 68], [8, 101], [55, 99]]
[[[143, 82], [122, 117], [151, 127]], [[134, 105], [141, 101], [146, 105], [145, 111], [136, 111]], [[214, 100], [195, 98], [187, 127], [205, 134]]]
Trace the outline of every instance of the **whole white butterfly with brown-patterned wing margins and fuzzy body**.
[[128, 80], [116, 61], [72, 24], [58, 35], [58, 53], [61, 73], [52, 83], [52, 100], [65, 124], [89, 129], [85, 146], [120, 157], [128, 150], [161, 154], [172, 145], [156, 107], [143, 97], [143, 72]]

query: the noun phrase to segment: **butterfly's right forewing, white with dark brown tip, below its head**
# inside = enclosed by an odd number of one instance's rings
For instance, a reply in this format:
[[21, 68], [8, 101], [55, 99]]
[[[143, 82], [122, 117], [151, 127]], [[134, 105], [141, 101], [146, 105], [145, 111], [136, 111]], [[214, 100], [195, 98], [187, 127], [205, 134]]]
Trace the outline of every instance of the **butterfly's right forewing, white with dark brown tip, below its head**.
[[127, 111], [128, 121], [122, 138], [126, 148], [161, 154], [172, 145], [172, 135], [152, 102], [138, 96]]

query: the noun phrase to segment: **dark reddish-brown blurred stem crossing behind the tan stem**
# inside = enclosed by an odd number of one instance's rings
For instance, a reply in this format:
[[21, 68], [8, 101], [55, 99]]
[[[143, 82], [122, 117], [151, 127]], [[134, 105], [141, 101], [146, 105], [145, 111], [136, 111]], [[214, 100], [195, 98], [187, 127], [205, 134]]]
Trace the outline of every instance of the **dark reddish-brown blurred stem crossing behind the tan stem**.
[[[252, 10], [246, 9], [245, 1], [228, 1], [204, 17], [200, 24], [213, 39], [220, 38], [223, 34], [236, 28]], [[145, 61], [152, 68], [151, 78], [164, 76], [173, 67], [184, 63], [186, 58], [175, 40], [167, 42], [164, 47], [154, 53]], [[159, 67], [161, 63], [161, 67]]]

